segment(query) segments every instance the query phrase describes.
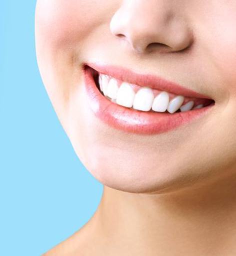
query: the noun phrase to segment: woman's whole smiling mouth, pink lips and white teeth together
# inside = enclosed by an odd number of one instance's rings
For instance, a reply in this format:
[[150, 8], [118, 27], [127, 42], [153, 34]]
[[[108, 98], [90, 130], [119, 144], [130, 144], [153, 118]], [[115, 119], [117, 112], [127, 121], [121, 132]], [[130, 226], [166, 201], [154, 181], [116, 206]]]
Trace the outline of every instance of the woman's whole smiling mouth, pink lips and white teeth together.
[[208, 112], [214, 100], [171, 81], [127, 69], [83, 66], [92, 112], [115, 129], [134, 134], [160, 134]]

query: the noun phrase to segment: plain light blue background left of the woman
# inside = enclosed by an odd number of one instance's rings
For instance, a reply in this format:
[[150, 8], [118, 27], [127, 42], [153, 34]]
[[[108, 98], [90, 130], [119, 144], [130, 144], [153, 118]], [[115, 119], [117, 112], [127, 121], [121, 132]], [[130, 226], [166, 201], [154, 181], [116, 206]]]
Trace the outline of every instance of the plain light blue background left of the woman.
[[[50, 1], [50, 0], [48, 0]], [[85, 224], [102, 185], [82, 166], [42, 85], [36, 1], [0, 1], [0, 255], [40, 255]]]

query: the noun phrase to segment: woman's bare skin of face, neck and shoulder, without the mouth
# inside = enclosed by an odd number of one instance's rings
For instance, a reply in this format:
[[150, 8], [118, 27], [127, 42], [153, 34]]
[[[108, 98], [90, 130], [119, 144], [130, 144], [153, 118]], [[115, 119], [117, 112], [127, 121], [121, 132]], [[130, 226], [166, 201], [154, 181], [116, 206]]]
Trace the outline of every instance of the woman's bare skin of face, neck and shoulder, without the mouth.
[[[236, 2], [38, 0], [36, 53], [56, 114], [102, 184], [92, 218], [44, 255], [236, 254]], [[84, 62], [125, 66], [215, 101], [160, 135], [118, 131], [85, 101]]]

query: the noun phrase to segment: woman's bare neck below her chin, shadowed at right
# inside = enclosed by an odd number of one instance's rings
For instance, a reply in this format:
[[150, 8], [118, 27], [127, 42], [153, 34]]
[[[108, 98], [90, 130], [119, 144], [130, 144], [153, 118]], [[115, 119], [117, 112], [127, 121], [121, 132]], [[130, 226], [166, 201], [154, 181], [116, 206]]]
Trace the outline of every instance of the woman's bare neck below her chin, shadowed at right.
[[104, 186], [90, 223], [96, 223], [97, 238], [104, 238], [99, 242], [112, 255], [231, 255], [236, 253], [235, 183], [225, 178], [158, 195]]

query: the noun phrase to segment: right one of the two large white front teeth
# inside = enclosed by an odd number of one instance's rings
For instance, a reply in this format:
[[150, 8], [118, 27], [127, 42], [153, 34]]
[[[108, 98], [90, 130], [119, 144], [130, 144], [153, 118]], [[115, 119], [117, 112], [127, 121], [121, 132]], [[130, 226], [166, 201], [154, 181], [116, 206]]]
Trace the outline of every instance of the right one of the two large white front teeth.
[[133, 108], [142, 111], [149, 111], [154, 99], [153, 92], [148, 87], [143, 87], [136, 92], [133, 101]]

